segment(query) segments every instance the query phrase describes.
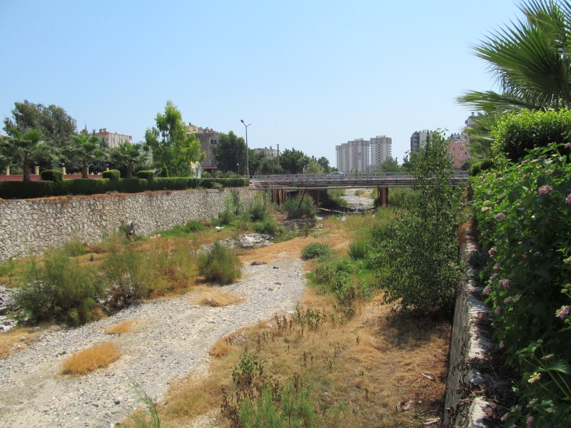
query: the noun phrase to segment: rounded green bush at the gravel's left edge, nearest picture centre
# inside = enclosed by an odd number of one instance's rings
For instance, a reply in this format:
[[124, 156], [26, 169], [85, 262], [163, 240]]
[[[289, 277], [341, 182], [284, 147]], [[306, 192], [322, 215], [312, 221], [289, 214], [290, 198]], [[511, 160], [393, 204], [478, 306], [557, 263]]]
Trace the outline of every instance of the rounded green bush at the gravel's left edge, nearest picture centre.
[[216, 241], [212, 248], [198, 256], [198, 273], [207, 281], [225, 285], [242, 276], [242, 263], [230, 248]]

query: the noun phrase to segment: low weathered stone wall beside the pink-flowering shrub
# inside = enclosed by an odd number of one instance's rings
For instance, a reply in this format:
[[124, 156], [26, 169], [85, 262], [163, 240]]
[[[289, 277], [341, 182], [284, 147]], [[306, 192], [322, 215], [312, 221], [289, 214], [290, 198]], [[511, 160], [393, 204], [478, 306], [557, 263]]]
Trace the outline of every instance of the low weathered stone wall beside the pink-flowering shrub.
[[[474, 243], [463, 243], [460, 257], [468, 262], [477, 251]], [[487, 353], [492, 349], [490, 332], [482, 325], [489, 309], [482, 302], [482, 287], [475, 281], [477, 272], [468, 264], [466, 278], [458, 284], [454, 325], [450, 342], [450, 362], [446, 384], [443, 427], [487, 427], [486, 410], [490, 404], [482, 390], [496, 382], [482, 372]]]

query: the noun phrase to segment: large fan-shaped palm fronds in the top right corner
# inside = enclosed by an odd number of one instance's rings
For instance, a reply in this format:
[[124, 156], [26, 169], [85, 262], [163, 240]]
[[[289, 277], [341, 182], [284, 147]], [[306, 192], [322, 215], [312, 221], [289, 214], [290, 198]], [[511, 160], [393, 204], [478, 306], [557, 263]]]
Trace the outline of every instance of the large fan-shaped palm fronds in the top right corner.
[[468, 91], [458, 102], [487, 113], [571, 108], [571, 4], [527, 0], [525, 19], [474, 46], [502, 89]]

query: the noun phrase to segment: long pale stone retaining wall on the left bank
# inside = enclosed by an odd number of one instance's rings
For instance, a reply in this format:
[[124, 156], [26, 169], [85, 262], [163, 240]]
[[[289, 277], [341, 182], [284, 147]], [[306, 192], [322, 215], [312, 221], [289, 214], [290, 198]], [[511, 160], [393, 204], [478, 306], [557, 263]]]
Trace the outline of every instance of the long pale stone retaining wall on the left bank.
[[[76, 238], [98, 243], [133, 221], [137, 235], [151, 235], [188, 220], [216, 218], [232, 190], [112, 193], [26, 200], [0, 200], [0, 261], [64, 245]], [[253, 192], [235, 190], [241, 200]]]

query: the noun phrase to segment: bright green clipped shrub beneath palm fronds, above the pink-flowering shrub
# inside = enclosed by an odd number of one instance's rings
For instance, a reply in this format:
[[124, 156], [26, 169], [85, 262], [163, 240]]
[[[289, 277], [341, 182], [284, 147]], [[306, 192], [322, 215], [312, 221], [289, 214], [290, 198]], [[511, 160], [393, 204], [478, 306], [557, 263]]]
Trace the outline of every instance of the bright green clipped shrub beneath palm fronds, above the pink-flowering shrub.
[[[518, 161], [532, 148], [567, 143], [571, 136], [571, 111], [530, 111], [505, 114], [492, 128], [492, 153]], [[483, 168], [482, 168], [483, 169]]]

